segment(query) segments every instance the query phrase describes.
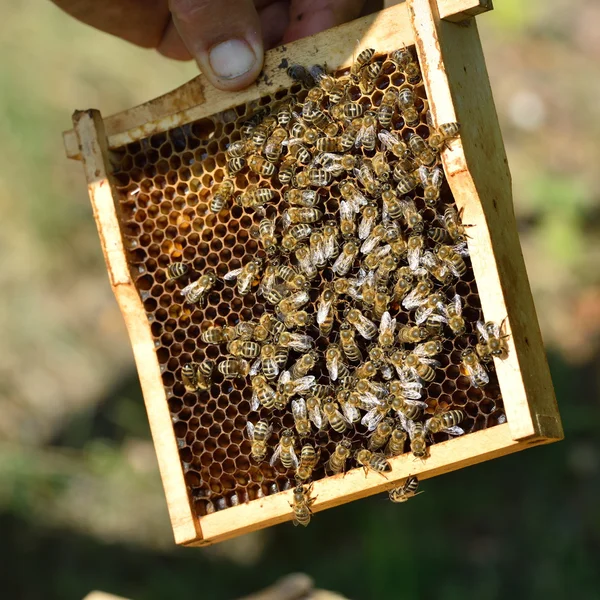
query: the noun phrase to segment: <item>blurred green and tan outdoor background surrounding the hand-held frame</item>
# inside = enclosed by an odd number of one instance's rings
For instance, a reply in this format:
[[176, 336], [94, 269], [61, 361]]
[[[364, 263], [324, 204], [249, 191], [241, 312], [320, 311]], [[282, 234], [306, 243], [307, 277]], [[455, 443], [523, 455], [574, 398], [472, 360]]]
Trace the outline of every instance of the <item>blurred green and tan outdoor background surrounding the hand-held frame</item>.
[[185, 82], [50, 2], [0, 0], [0, 590], [231, 599], [304, 571], [355, 599], [600, 589], [600, 5], [479, 19], [566, 440], [206, 549], [173, 546], [131, 350], [61, 131]]

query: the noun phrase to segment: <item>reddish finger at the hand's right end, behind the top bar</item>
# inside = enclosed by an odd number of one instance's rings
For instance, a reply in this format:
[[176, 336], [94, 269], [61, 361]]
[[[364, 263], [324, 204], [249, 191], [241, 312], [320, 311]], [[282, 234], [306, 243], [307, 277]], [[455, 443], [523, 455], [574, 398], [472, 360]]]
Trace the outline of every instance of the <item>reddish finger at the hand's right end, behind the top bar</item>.
[[292, 0], [283, 43], [356, 19], [364, 4], [365, 0]]

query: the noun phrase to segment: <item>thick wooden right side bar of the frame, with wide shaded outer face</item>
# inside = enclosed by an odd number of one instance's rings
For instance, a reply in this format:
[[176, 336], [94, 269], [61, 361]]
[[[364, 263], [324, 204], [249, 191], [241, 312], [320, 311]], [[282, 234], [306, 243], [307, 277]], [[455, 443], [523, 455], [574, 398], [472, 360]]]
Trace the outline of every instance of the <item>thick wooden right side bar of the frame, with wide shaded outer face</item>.
[[515, 440], [561, 439], [560, 416], [521, 252], [508, 161], [475, 19], [441, 21], [433, 0], [409, 0], [437, 124], [461, 134], [442, 160], [463, 220], [486, 319], [502, 322], [509, 355], [494, 359]]

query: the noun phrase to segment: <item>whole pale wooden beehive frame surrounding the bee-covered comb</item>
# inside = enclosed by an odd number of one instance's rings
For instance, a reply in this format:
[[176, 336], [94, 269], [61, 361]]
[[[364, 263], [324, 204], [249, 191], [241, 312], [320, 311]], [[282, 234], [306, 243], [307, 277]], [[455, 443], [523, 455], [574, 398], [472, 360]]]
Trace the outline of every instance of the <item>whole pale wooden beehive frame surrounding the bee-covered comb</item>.
[[[148, 319], [126, 259], [109, 149], [146, 138], [289, 87], [290, 64], [348, 67], [360, 47], [389, 52], [415, 46], [437, 123], [458, 121], [461, 136], [443, 152], [446, 178], [464, 222], [474, 225], [469, 251], [487, 319], [506, 317], [509, 354], [495, 359], [507, 422], [435, 444], [430, 456], [392, 458], [387, 479], [353, 469], [314, 483], [315, 512], [394, 487], [409, 475], [423, 480], [526, 447], [557, 441], [562, 427], [513, 214], [511, 179], [475, 20], [488, 2], [409, 0], [375, 15], [299, 40], [266, 55], [263, 75], [247, 90], [225, 93], [199, 76], [145, 105], [102, 120], [74, 115], [65, 133], [70, 158], [81, 159], [108, 267], [134, 349], [169, 513], [179, 544], [206, 545], [292, 518], [290, 491], [198, 518], [188, 496], [173, 423]], [[444, 18], [440, 18], [442, 15]], [[458, 22], [452, 22], [458, 21]]]

